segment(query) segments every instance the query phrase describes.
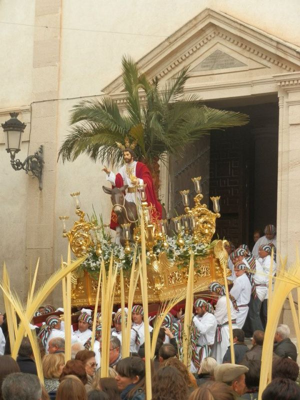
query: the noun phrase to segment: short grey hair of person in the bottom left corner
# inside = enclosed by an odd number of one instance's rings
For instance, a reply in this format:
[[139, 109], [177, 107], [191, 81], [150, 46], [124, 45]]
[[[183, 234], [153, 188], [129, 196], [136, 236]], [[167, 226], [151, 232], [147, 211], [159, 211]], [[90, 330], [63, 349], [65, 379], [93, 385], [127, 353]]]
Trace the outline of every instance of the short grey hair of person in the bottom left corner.
[[15, 372], [6, 376], [2, 383], [3, 400], [39, 400], [41, 385], [32, 373]]

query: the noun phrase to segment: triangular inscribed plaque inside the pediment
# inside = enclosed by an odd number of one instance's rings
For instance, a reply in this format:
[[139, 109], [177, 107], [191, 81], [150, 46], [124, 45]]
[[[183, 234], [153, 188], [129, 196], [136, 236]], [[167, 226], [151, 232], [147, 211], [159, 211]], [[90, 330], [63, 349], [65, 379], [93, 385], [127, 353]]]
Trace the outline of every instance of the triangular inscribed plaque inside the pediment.
[[238, 66], [246, 66], [243, 62], [226, 54], [221, 50], [215, 50], [213, 53], [204, 58], [192, 71], [207, 71], [211, 69], [236, 68]]

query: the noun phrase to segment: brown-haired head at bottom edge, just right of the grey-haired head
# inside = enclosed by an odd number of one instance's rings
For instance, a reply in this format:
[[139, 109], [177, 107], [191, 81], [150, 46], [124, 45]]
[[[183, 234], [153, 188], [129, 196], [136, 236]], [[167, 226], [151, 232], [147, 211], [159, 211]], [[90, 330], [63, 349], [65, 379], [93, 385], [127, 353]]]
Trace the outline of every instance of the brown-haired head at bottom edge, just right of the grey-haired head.
[[63, 377], [56, 392], [56, 400], [87, 400], [81, 380], [74, 375]]

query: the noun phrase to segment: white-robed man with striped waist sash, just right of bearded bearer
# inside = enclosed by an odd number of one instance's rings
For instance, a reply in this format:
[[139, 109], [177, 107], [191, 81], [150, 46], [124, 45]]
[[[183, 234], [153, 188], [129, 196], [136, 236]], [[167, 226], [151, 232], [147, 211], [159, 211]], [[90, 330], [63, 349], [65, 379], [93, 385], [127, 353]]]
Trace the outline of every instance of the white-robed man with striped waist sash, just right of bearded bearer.
[[[218, 364], [221, 364], [223, 361], [223, 357], [227, 348], [230, 344], [229, 339], [229, 326], [228, 326], [228, 312], [227, 312], [227, 302], [225, 295], [225, 287], [221, 286], [218, 282], [211, 282], [209, 285], [209, 290], [217, 293], [220, 297], [217, 300], [214, 317], [217, 322], [215, 341], [212, 347], [211, 356], [216, 359]], [[230, 314], [231, 314], [231, 322], [232, 328], [236, 328], [236, 315], [237, 315], [237, 306], [235, 299], [229, 293], [229, 305], [230, 305]]]

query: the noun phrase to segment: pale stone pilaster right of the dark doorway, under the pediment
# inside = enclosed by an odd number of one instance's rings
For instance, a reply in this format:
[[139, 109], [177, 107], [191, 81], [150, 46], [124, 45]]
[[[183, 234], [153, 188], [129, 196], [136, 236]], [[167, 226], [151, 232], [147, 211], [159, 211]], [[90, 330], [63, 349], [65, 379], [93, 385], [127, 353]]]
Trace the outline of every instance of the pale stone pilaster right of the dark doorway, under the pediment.
[[273, 77], [279, 86], [277, 249], [293, 262], [300, 237], [300, 72]]

